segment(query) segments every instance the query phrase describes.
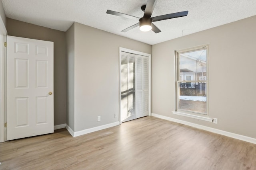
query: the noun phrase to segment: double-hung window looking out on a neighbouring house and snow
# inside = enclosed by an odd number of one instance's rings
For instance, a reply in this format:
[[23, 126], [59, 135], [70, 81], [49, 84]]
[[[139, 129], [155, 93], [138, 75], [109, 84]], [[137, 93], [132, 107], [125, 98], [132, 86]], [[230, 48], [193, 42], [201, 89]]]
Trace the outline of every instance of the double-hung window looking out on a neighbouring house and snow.
[[208, 114], [208, 46], [176, 51], [176, 111]]

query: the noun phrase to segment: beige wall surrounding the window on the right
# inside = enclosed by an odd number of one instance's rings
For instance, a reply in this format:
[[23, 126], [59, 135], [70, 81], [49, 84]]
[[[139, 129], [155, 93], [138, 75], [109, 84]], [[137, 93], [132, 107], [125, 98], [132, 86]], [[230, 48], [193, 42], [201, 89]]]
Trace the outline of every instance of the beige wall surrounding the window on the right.
[[[218, 124], [172, 114], [174, 50], [209, 45], [209, 114]], [[256, 138], [256, 16], [152, 46], [152, 113]]]

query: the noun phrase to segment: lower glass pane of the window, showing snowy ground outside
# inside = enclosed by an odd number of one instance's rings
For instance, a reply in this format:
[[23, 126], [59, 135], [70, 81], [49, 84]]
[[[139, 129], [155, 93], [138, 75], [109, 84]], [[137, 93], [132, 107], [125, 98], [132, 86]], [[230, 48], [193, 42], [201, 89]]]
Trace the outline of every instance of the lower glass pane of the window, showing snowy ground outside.
[[206, 113], [206, 82], [180, 82], [178, 109]]

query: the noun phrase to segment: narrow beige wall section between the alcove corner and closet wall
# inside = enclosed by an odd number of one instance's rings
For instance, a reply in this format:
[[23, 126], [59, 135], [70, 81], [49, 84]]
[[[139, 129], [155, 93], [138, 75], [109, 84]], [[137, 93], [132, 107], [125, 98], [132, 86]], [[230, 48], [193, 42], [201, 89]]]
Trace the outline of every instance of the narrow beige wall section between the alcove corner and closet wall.
[[67, 82], [67, 125], [75, 128], [74, 109], [74, 57], [75, 57], [75, 24], [66, 31], [66, 82]]

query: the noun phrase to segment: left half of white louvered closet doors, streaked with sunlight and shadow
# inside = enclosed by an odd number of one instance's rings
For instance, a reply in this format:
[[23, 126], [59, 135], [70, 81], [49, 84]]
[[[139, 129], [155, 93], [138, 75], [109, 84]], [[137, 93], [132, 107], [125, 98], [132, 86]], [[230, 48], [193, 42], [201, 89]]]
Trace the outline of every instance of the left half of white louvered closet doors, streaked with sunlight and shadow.
[[121, 121], [135, 119], [135, 55], [121, 53]]

